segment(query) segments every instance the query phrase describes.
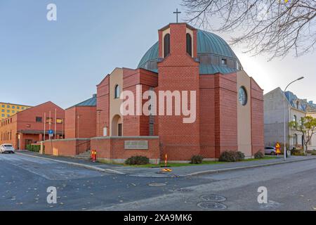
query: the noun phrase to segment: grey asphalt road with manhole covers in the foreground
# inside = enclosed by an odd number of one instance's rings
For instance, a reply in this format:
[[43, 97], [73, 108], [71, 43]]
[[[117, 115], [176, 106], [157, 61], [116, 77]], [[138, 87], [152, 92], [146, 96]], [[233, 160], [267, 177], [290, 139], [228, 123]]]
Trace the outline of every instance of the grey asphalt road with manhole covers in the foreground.
[[[149, 186], [157, 183], [162, 186]], [[0, 210], [316, 210], [316, 160], [191, 178], [105, 174], [24, 155], [0, 155]], [[46, 189], [57, 188], [48, 204]], [[268, 204], [258, 203], [258, 188]], [[206, 195], [206, 196], [205, 196]], [[211, 196], [209, 196], [211, 195]], [[223, 206], [220, 205], [220, 206]], [[205, 208], [206, 207], [206, 208]]]

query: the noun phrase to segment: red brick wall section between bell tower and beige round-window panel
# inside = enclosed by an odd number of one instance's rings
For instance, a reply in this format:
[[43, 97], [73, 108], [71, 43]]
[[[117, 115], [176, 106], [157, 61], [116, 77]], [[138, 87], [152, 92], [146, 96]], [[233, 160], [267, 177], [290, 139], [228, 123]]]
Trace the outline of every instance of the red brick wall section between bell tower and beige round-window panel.
[[236, 74], [200, 75], [201, 155], [219, 158], [237, 150]]

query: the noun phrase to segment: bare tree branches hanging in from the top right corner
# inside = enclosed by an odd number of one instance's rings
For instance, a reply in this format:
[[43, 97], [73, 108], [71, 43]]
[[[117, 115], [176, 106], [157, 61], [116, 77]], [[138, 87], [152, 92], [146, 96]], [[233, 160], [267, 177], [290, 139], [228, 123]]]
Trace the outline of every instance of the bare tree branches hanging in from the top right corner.
[[187, 23], [206, 30], [233, 32], [237, 37], [232, 37], [232, 44], [246, 44], [248, 50], [245, 52], [253, 53], [254, 56], [269, 53], [272, 60], [283, 58], [291, 51], [294, 51], [296, 56], [301, 56], [314, 50], [315, 0], [182, 2], [186, 8]]

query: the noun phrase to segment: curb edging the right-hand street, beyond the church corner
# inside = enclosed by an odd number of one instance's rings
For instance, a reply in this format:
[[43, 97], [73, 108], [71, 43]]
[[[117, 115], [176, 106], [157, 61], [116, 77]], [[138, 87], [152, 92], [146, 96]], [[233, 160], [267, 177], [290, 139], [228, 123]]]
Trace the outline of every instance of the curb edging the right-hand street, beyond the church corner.
[[273, 163], [268, 163], [268, 164], [263, 164], [263, 165], [252, 165], [252, 166], [246, 166], [246, 167], [232, 167], [232, 168], [228, 168], [228, 169], [205, 170], [205, 171], [201, 171], [201, 172], [194, 172], [192, 174], [186, 174], [186, 175], [184, 175], [184, 177], [199, 176], [199, 175], [205, 175], [205, 174], [218, 174], [218, 173], [222, 173], [222, 172], [230, 172], [230, 171], [236, 171], [236, 170], [242, 170], [242, 169], [251, 169], [251, 168], [258, 168], [258, 167], [269, 167], [269, 166], [274, 166], [274, 165], [282, 165], [282, 164], [293, 163], [293, 162], [303, 162], [303, 161], [308, 161], [308, 160], [316, 160], [316, 158], [285, 161], [285, 162], [284, 161], [273, 162]]

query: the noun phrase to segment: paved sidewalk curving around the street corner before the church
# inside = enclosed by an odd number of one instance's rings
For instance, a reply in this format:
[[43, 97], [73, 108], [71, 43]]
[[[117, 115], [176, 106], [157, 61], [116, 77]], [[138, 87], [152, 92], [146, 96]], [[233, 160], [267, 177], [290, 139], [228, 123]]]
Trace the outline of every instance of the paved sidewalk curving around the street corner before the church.
[[246, 162], [227, 162], [223, 164], [214, 165], [192, 165], [187, 167], [170, 167], [172, 172], [162, 172], [162, 168], [140, 168], [140, 167], [126, 167], [123, 165], [103, 164], [100, 162], [90, 162], [88, 160], [79, 160], [70, 157], [39, 155], [39, 153], [32, 153], [28, 151], [18, 152], [21, 155], [29, 157], [44, 158], [46, 160], [53, 160], [56, 162], [63, 162], [74, 166], [86, 167], [88, 169], [95, 169], [100, 172], [107, 172], [111, 174], [121, 174], [139, 177], [185, 177], [198, 176], [202, 174], [215, 174], [219, 172], [229, 172], [237, 169], [249, 169], [256, 167], [266, 167], [272, 165], [281, 165], [284, 163], [301, 162], [305, 160], [316, 160], [316, 156], [291, 156], [284, 162], [283, 158], [275, 158], [272, 160], [256, 160]]

